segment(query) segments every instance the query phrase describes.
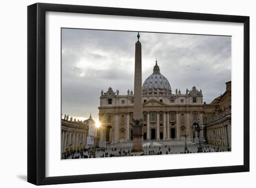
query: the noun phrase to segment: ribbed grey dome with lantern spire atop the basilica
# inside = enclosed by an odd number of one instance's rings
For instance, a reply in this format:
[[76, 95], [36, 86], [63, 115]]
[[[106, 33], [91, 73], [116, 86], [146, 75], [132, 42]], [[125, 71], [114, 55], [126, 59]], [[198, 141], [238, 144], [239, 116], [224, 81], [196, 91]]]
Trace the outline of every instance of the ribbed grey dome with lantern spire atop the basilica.
[[[153, 69], [153, 74], [148, 76], [148, 78], [144, 81], [142, 86], [143, 93], [151, 93], [152, 91], [159, 91], [160, 93], [171, 93], [171, 86], [167, 80], [161, 73], [160, 68], [157, 65], [157, 61], [155, 61], [155, 67]], [[153, 93], [154, 94], [154, 93]]]

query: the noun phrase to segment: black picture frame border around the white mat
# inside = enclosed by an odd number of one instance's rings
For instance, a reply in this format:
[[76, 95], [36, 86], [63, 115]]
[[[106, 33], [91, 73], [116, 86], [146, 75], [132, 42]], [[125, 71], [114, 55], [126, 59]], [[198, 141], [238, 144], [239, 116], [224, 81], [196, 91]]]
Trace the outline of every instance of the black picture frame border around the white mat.
[[[46, 12], [243, 23], [243, 165], [46, 177]], [[36, 3], [27, 7], [27, 181], [35, 185], [249, 172], [249, 16]]]

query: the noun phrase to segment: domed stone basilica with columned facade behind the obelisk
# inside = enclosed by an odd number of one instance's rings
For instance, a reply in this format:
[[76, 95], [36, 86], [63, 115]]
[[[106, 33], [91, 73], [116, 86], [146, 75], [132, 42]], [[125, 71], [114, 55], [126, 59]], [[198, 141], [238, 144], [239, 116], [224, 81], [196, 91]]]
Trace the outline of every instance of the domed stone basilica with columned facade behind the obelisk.
[[[204, 115], [202, 90], [195, 86], [184, 94], [175, 89], [172, 92], [167, 78], [161, 74], [155, 62], [153, 73], [142, 86], [143, 140], [181, 140], [187, 133], [188, 141], [193, 141], [193, 125], [202, 125]], [[99, 121], [101, 121], [100, 141], [119, 142], [132, 140], [133, 91], [119, 94], [119, 90], [109, 87], [101, 91]], [[203, 131], [200, 137], [204, 139]]]

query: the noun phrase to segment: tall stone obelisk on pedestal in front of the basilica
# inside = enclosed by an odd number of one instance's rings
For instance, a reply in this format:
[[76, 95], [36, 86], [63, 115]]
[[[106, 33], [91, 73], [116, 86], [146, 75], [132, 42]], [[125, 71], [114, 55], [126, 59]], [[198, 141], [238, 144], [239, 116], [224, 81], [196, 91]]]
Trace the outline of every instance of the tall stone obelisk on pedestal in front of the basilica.
[[133, 107], [133, 148], [131, 153], [139, 155], [142, 150], [142, 78], [140, 34], [135, 43], [134, 107]]

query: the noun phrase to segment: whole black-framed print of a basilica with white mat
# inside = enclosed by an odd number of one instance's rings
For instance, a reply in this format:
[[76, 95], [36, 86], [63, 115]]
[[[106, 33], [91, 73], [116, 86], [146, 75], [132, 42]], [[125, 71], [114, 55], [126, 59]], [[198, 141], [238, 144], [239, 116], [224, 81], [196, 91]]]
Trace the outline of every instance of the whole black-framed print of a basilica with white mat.
[[27, 11], [28, 182], [249, 171], [249, 17]]

